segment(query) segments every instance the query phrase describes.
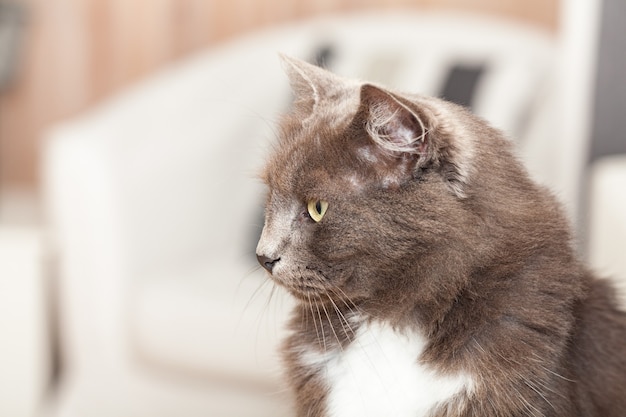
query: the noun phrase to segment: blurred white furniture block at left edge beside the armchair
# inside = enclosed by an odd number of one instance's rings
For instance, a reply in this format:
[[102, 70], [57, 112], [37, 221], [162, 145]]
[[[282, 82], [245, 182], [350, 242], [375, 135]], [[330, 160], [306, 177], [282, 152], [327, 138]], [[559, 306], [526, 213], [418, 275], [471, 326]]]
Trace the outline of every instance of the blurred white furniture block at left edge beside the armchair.
[[49, 355], [41, 232], [0, 224], [0, 415], [31, 417], [47, 388]]

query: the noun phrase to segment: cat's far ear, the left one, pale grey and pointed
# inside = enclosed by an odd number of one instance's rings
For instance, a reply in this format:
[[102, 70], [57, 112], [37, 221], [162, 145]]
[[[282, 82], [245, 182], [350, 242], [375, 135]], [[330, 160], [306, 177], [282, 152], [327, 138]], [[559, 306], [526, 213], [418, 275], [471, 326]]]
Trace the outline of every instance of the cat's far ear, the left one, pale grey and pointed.
[[324, 101], [336, 100], [356, 83], [316, 65], [280, 54], [295, 94], [294, 108], [301, 120], [312, 116]]

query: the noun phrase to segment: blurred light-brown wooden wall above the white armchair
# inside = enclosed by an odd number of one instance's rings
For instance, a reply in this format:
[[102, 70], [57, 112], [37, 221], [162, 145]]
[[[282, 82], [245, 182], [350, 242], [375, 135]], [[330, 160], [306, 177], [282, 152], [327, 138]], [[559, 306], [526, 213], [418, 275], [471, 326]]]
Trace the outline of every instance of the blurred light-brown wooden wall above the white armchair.
[[364, 8], [486, 11], [557, 30], [558, 0], [22, 0], [16, 84], [0, 96], [0, 186], [38, 184], [43, 129], [212, 43], [279, 22]]

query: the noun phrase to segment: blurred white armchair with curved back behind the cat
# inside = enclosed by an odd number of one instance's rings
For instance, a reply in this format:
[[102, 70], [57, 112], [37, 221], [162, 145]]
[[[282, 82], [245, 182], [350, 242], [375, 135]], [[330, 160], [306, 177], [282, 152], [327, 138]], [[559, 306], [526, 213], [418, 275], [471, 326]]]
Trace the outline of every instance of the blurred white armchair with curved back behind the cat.
[[537, 178], [559, 177], [549, 162], [556, 45], [534, 29], [366, 14], [186, 59], [45, 138], [63, 353], [47, 415], [289, 414], [277, 349], [291, 300], [255, 264], [255, 173], [290, 102], [277, 53], [310, 58], [326, 46], [339, 73], [429, 94], [450, 65], [484, 64], [475, 111], [518, 138]]

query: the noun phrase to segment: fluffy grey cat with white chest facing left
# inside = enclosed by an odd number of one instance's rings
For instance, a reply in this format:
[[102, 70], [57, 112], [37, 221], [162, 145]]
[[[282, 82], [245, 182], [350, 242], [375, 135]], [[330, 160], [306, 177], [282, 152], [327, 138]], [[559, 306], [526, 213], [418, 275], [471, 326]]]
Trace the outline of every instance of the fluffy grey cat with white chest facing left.
[[296, 100], [257, 258], [297, 300], [300, 417], [623, 417], [626, 313], [510, 141], [282, 57]]

